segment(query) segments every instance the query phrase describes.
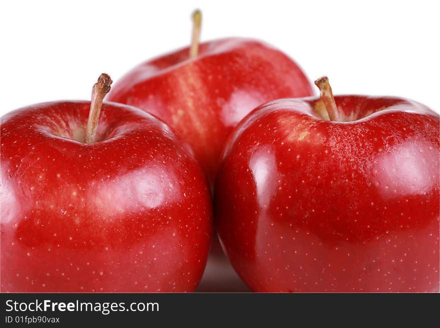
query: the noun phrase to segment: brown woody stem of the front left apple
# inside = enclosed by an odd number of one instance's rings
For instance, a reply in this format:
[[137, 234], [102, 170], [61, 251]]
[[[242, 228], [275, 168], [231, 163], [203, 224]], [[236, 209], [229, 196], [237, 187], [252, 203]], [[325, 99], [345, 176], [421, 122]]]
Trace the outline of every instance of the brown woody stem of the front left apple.
[[91, 91], [90, 111], [88, 112], [87, 127], [85, 130], [85, 142], [94, 143], [96, 141], [96, 130], [98, 127], [99, 114], [102, 108], [102, 100], [110, 91], [111, 78], [102, 73], [98, 81], [93, 85]]

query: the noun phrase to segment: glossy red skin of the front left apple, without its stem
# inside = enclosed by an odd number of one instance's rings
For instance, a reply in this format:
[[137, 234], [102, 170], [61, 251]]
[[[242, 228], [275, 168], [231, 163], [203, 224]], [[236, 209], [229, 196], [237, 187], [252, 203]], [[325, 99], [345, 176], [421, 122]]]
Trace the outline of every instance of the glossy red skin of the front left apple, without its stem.
[[100, 141], [76, 141], [89, 108], [43, 103], [1, 118], [1, 292], [193, 291], [212, 209], [190, 147], [113, 103]]

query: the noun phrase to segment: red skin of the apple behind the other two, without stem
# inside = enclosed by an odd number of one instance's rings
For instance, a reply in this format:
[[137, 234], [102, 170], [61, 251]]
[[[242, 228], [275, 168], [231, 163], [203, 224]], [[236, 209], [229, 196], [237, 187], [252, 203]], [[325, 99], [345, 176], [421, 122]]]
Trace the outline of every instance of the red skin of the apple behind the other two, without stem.
[[264, 102], [313, 95], [301, 69], [260, 41], [225, 38], [145, 61], [113, 85], [106, 99], [141, 108], [188, 142], [212, 186], [232, 128]]

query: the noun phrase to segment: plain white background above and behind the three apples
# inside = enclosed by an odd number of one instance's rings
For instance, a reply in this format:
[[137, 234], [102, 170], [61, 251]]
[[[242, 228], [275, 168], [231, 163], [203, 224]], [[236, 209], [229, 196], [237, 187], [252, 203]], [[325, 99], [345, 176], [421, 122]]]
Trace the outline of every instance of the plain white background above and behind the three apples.
[[395, 95], [440, 110], [436, 1], [3, 1], [0, 115], [32, 103], [89, 99], [101, 72], [185, 46], [191, 11], [202, 40], [250, 36], [294, 58], [334, 93]]

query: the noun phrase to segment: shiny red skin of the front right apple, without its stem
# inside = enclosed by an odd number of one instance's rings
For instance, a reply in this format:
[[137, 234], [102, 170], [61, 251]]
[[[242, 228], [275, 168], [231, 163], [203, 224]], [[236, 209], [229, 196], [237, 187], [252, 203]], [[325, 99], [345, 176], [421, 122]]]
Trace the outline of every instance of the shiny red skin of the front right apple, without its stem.
[[439, 117], [390, 97], [261, 105], [223, 151], [216, 228], [253, 292], [438, 292]]

